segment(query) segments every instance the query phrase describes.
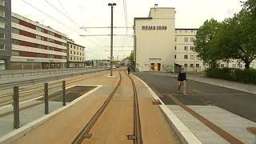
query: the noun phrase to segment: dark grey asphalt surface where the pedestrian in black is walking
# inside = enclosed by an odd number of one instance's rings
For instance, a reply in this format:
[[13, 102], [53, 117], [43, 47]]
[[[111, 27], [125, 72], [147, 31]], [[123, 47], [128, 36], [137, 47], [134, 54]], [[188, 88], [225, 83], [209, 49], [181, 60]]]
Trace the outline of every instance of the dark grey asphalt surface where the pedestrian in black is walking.
[[170, 97], [166, 96], [166, 94], [172, 94], [186, 105], [214, 105], [256, 122], [256, 94], [189, 80], [186, 83], [187, 95], [183, 96], [176, 93], [178, 89], [177, 78], [154, 72], [138, 72], [133, 74], [162, 94], [160, 98], [166, 105], [176, 105]]

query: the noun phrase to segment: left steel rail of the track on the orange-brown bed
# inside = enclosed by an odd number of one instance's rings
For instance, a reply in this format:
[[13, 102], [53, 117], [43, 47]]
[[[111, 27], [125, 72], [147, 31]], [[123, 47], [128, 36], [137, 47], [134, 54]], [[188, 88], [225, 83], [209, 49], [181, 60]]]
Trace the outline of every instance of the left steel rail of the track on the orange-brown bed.
[[82, 128], [82, 130], [79, 131], [76, 138], [74, 138], [72, 144], [80, 144], [84, 138], [90, 138], [92, 134], [89, 134], [90, 129], [94, 126], [95, 122], [97, 122], [98, 118], [102, 115], [103, 111], [106, 109], [106, 106], [110, 103], [111, 99], [113, 98], [114, 94], [117, 92], [119, 86], [122, 82], [122, 76], [119, 70], [119, 81], [117, 86], [114, 87], [114, 90], [110, 94], [108, 98], [106, 98], [106, 101], [102, 104], [102, 106], [97, 110], [97, 112], [94, 114], [92, 118], [90, 118], [90, 121], [86, 123], [86, 126]]

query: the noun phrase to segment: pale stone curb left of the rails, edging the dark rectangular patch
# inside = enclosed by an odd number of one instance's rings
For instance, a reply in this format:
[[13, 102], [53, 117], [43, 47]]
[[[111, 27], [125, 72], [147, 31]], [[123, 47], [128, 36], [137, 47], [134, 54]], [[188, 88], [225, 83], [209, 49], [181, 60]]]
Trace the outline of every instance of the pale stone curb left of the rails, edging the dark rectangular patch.
[[[89, 85], [74, 85], [74, 86], [89, 86]], [[70, 86], [70, 87], [73, 87], [73, 86]], [[38, 119], [34, 120], [33, 122], [30, 122], [17, 130], [11, 131], [10, 133], [8, 133], [0, 138], [0, 143], [13, 142], [14, 140], [22, 137], [22, 135], [30, 132], [31, 130], [34, 130], [34, 128], [40, 126], [43, 122], [46, 122], [50, 118], [54, 117], [54, 115], [62, 112], [63, 110], [65, 110], [66, 108], [68, 108], [70, 106], [73, 106], [76, 102], [80, 101], [82, 98], [85, 98], [86, 96], [94, 93], [94, 91], [98, 90], [101, 87], [102, 87], [102, 85], [97, 85], [97, 87], [94, 90], [90, 90], [89, 92], [87, 92], [86, 94], [83, 94], [79, 98], [76, 98], [74, 101], [70, 102], [66, 106], [63, 106], [63, 107], [59, 108], [58, 110], [54, 110], [50, 114], [47, 114], [47, 115], [43, 116], [42, 118], [38, 118]]]

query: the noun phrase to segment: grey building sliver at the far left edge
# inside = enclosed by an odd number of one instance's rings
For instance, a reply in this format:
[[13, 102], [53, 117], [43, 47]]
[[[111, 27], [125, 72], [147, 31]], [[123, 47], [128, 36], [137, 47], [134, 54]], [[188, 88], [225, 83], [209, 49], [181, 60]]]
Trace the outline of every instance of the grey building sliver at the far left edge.
[[10, 69], [11, 0], [0, 0], [0, 70]]

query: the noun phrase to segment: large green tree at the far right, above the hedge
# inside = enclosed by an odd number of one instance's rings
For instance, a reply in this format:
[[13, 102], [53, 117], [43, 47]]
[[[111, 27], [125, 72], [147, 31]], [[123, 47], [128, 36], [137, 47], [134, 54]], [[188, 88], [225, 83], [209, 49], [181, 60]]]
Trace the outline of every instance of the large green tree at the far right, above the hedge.
[[220, 56], [241, 59], [246, 69], [250, 68], [250, 62], [256, 58], [256, 23], [249, 7], [246, 2], [242, 10], [234, 14], [234, 18], [224, 20], [217, 34]]

